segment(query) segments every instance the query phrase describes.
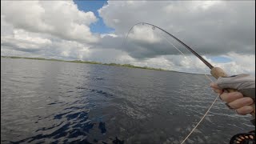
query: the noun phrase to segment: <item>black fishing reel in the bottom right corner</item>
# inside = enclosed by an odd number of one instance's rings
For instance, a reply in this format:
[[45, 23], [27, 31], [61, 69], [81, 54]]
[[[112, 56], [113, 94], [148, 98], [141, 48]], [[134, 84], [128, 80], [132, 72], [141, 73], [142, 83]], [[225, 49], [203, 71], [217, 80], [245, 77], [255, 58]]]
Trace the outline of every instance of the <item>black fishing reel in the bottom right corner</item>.
[[230, 144], [255, 144], [255, 130], [249, 133], [235, 134], [230, 139]]

